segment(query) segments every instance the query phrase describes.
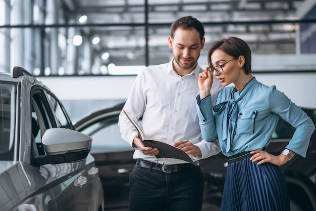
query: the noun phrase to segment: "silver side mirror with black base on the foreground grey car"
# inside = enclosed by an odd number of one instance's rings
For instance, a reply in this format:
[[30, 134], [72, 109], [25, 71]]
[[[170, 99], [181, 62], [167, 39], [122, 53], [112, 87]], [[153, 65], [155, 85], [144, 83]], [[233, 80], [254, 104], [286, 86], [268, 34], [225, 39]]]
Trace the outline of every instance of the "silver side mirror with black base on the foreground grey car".
[[45, 155], [33, 158], [35, 165], [75, 162], [85, 159], [91, 149], [92, 138], [65, 128], [47, 129], [42, 138]]

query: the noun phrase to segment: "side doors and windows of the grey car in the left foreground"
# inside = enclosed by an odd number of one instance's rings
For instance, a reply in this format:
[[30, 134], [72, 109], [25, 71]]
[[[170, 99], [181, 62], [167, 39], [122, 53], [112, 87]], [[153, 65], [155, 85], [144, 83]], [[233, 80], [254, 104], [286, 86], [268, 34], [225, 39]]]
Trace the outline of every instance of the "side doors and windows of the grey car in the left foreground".
[[[34, 137], [41, 154], [44, 153], [41, 138], [45, 130], [57, 127], [73, 129], [73, 125], [54, 95], [41, 89], [33, 89], [32, 93], [32, 118], [39, 128]], [[103, 200], [103, 194], [100, 193], [98, 170], [90, 154], [81, 161], [45, 164], [39, 168], [46, 186], [51, 189], [57, 210], [98, 210], [96, 206]]]

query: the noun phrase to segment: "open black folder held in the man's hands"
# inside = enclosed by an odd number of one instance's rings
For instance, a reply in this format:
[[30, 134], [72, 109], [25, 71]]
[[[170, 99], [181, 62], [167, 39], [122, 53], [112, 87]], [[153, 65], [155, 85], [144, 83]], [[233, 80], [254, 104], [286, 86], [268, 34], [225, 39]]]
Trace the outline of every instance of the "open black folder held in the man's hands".
[[187, 155], [181, 149], [179, 149], [175, 146], [172, 146], [170, 144], [167, 144], [165, 142], [153, 139], [153, 138], [144, 137], [144, 133], [139, 128], [137, 123], [128, 115], [128, 113], [125, 110], [123, 110], [123, 111], [126, 114], [127, 118], [135, 126], [135, 128], [140, 136], [140, 139], [144, 142], [144, 145], [147, 147], [159, 149], [159, 154], [155, 155], [156, 158], [177, 158], [177, 159], [184, 160], [184, 161], [187, 161], [190, 163], [194, 163], [193, 160], [190, 158], [190, 156]]

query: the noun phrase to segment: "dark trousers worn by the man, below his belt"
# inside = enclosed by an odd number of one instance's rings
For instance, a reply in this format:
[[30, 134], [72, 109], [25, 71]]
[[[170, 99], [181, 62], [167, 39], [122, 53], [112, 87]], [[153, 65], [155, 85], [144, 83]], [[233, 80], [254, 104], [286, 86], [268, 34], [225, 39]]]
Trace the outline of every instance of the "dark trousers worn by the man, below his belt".
[[163, 173], [135, 165], [130, 174], [129, 211], [199, 211], [203, 190], [199, 166]]

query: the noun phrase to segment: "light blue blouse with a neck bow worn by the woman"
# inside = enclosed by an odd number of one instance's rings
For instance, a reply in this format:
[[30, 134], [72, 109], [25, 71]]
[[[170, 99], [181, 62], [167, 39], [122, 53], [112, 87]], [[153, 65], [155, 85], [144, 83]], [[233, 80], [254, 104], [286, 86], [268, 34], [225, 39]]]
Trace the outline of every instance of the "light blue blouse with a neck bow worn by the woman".
[[296, 128], [286, 148], [305, 157], [315, 129], [310, 117], [284, 93], [255, 77], [241, 93], [235, 87], [224, 88], [213, 112], [212, 96], [202, 100], [197, 96], [196, 107], [202, 138], [212, 141], [218, 137], [226, 156], [268, 146], [281, 117]]

